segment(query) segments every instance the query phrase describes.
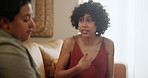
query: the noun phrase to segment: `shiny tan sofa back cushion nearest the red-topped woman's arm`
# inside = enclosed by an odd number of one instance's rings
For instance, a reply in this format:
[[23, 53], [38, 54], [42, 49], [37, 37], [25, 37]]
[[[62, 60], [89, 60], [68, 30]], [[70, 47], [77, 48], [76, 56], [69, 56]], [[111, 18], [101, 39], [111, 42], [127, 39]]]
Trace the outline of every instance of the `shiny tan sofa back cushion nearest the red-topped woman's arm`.
[[52, 77], [54, 75], [54, 61], [59, 58], [60, 50], [62, 47], [63, 41], [60, 39], [51, 40], [45, 43], [40, 43], [39, 48], [41, 50], [43, 61], [44, 61], [44, 68], [46, 77]]

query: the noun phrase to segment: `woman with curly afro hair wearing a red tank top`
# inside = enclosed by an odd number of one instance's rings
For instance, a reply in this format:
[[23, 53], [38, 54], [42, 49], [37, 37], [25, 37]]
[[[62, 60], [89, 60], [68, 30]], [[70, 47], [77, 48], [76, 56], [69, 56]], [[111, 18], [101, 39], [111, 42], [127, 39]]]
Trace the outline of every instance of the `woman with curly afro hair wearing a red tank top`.
[[109, 20], [100, 3], [90, 0], [74, 8], [71, 23], [81, 34], [64, 40], [55, 78], [113, 78], [114, 43], [101, 36]]

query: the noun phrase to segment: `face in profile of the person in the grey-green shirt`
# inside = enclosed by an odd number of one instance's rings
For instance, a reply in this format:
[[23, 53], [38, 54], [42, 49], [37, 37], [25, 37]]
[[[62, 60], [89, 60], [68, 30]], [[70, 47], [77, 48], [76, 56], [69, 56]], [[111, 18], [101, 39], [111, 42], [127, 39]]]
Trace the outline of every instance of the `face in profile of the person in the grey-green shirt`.
[[22, 42], [29, 39], [32, 28], [35, 23], [32, 19], [31, 4], [26, 4], [21, 7], [20, 12], [14, 17], [12, 22], [8, 22], [9, 34], [21, 40]]

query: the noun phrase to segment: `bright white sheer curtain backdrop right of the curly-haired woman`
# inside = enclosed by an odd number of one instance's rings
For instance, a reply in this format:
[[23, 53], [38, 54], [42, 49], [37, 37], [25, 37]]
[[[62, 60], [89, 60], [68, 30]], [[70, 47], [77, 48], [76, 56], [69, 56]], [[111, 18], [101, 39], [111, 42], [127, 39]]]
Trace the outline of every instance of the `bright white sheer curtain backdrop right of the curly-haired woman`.
[[127, 65], [128, 78], [148, 78], [148, 0], [105, 0], [115, 42], [115, 62]]

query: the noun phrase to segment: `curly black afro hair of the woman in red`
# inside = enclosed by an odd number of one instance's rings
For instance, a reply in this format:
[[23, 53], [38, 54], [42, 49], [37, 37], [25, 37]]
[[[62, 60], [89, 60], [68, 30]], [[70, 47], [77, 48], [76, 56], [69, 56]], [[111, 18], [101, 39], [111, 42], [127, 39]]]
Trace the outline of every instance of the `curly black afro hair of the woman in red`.
[[83, 17], [84, 14], [89, 14], [92, 16], [94, 21], [96, 22], [98, 34], [97, 36], [101, 36], [110, 26], [110, 18], [106, 10], [103, 8], [101, 3], [98, 2], [85, 2], [83, 4], [78, 5], [74, 8], [71, 15], [71, 23], [75, 29], [78, 29], [79, 18]]

